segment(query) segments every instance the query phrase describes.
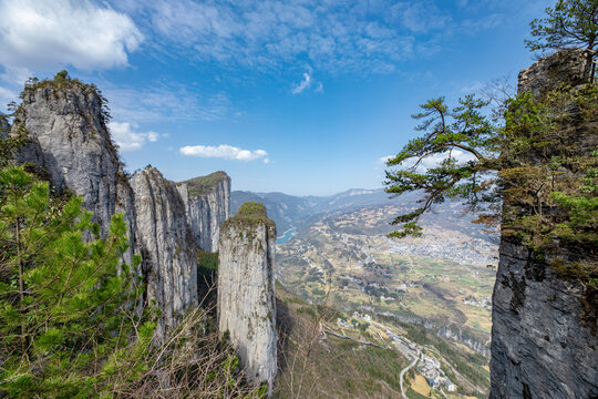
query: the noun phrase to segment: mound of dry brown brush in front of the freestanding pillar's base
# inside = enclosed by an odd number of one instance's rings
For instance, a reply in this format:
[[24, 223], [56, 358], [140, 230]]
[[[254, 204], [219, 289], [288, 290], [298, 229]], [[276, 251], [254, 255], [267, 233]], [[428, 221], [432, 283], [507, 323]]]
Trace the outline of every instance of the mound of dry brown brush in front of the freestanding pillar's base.
[[[117, 379], [122, 382], [106, 393], [114, 398], [260, 398], [256, 388], [244, 382], [234, 348], [215, 329], [213, 310], [195, 308], [161, 345], [122, 365]], [[143, 371], [132, 376], [138, 369]]]

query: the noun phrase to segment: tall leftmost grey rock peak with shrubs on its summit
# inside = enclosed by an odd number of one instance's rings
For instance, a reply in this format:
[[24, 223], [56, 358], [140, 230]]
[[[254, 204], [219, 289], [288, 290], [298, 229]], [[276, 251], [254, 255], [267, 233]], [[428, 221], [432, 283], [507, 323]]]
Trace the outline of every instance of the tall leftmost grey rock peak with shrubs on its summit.
[[83, 197], [102, 227], [116, 209], [118, 185], [126, 182], [122, 164], [102, 116], [102, 99], [92, 88], [47, 84], [24, 90], [13, 122], [23, 124], [32, 143], [18, 162], [31, 162], [58, 190], [69, 188]]

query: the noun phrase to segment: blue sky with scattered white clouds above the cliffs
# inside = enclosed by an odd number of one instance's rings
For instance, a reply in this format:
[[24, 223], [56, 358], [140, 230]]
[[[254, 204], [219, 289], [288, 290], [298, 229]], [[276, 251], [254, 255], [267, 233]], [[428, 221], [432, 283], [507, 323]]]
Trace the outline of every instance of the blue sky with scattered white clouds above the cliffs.
[[0, 0], [0, 103], [62, 69], [96, 83], [127, 168], [234, 190], [381, 187], [381, 158], [450, 103], [534, 62], [548, 0]]

